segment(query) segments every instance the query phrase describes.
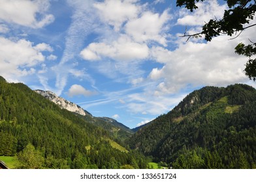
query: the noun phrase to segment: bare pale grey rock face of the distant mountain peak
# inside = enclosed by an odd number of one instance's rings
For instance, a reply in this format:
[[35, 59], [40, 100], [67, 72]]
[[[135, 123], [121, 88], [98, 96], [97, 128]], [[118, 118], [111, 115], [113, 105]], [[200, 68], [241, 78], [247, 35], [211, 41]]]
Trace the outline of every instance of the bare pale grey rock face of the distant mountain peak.
[[51, 92], [49, 90], [47, 90], [47, 91], [35, 90], [35, 92], [37, 92], [41, 96], [44, 96], [44, 98], [49, 99], [50, 101], [56, 103], [57, 105], [59, 105], [59, 107], [61, 109], [67, 109], [71, 112], [75, 112], [82, 116], [86, 116], [86, 115], [91, 116], [91, 114], [88, 111], [82, 109], [82, 107], [80, 107], [79, 105], [76, 105], [75, 103], [72, 103], [71, 101], [67, 101], [66, 99], [63, 99], [63, 98], [57, 96], [56, 94], [54, 94], [54, 92]]

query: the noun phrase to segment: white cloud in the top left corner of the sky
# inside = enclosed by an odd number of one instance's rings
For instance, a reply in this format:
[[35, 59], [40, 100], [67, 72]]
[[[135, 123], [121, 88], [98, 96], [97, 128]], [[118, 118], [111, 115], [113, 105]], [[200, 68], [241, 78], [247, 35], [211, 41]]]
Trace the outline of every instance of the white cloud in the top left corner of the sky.
[[46, 14], [50, 6], [48, 0], [0, 0], [0, 3], [0, 21], [33, 28], [41, 28], [54, 21], [52, 14]]

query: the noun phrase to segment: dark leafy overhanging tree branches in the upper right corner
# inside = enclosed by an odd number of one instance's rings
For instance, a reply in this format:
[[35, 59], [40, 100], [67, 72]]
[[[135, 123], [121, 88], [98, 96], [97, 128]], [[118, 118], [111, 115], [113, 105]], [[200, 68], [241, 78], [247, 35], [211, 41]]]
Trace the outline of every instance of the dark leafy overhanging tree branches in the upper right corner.
[[[197, 9], [196, 3], [206, 0], [177, 0], [177, 6], [185, 6], [185, 8], [191, 10]], [[204, 35], [206, 41], [211, 41], [212, 38], [221, 34], [227, 34], [229, 36], [239, 36], [242, 31], [255, 26], [251, 23], [251, 20], [255, 19], [256, 0], [226, 0], [227, 6], [222, 19], [210, 19], [208, 23], [205, 23], [202, 27], [202, 31], [197, 34], [186, 34], [188, 39], [191, 37], [200, 37]], [[237, 37], [236, 36], [236, 37]], [[256, 43], [250, 40], [251, 44], [245, 45], [243, 43], [238, 44], [235, 47], [235, 52], [239, 55], [245, 55], [248, 57], [246, 63], [245, 73], [249, 79], [256, 80], [256, 59], [253, 56], [256, 55]]]

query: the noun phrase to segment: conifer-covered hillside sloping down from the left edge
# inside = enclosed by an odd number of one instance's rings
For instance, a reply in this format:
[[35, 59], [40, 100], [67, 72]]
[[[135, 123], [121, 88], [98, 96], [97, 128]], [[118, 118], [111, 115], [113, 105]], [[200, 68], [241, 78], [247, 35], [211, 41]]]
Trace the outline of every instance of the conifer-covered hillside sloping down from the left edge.
[[147, 168], [148, 163], [102, 127], [3, 77], [0, 138], [0, 155], [17, 156], [18, 168]]

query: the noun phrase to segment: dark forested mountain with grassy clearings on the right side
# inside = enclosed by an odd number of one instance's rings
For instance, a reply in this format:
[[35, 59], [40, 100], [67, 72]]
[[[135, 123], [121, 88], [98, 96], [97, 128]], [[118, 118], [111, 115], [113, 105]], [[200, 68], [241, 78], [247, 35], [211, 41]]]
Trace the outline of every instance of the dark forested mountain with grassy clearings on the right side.
[[129, 145], [173, 168], [255, 168], [256, 90], [206, 86], [142, 127]]

